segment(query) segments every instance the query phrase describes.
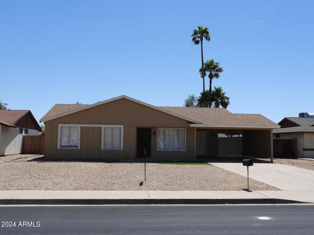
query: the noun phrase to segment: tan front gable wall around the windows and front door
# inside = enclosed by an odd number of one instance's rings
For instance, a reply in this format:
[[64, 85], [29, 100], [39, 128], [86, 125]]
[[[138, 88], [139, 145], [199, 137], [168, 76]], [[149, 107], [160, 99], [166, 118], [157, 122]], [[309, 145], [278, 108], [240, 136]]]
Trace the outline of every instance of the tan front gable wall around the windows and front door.
[[[123, 125], [123, 150], [101, 149], [101, 127], [81, 127], [80, 149], [57, 149], [59, 124]], [[194, 128], [182, 118], [160, 112], [129, 99], [118, 99], [45, 122], [45, 158], [54, 159], [135, 159], [137, 128], [152, 129], [151, 159], [194, 158]], [[186, 151], [158, 151], [157, 128], [186, 128]]]

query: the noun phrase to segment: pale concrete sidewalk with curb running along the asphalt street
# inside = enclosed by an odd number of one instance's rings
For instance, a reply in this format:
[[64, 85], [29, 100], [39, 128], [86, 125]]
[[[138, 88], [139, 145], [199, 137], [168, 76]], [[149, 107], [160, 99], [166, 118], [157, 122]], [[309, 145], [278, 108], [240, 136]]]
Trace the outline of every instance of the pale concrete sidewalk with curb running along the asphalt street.
[[[298, 200], [302, 196], [303, 200]], [[307, 199], [305, 200], [305, 195]], [[269, 204], [312, 202], [313, 192], [289, 191], [0, 191], [1, 205]]]

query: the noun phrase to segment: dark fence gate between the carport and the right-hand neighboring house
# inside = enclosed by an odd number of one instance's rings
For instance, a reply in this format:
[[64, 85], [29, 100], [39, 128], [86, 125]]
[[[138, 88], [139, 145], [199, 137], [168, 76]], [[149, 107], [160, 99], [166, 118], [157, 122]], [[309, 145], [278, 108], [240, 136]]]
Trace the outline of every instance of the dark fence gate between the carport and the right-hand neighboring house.
[[274, 158], [297, 158], [295, 139], [274, 139]]

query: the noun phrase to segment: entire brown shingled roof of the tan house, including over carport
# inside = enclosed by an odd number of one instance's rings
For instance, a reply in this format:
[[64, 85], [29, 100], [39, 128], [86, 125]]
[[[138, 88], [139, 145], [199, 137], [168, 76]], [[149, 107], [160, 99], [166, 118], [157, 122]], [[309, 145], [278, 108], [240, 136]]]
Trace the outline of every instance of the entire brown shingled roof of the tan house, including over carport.
[[223, 108], [198, 108], [198, 107], [157, 107], [142, 101], [121, 95], [112, 99], [98, 102], [92, 105], [87, 104], [56, 104], [40, 119], [45, 122], [60, 118], [98, 105], [112, 102], [118, 99], [128, 99], [133, 102], [145, 105], [163, 113], [182, 118], [189, 121], [190, 126], [195, 127], [225, 127], [225, 128], [279, 128], [275, 122], [259, 114], [232, 114]]

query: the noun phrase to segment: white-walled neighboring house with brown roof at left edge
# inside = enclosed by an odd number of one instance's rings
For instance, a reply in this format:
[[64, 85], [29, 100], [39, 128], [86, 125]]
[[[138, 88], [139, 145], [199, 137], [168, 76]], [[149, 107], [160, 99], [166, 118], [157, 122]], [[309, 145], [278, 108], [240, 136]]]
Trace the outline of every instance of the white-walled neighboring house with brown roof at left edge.
[[23, 136], [35, 136], [40, 131], [29, 110], [0, 109], [0, 156], [21, 153]]

